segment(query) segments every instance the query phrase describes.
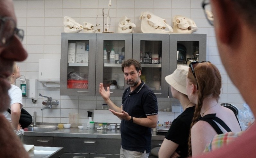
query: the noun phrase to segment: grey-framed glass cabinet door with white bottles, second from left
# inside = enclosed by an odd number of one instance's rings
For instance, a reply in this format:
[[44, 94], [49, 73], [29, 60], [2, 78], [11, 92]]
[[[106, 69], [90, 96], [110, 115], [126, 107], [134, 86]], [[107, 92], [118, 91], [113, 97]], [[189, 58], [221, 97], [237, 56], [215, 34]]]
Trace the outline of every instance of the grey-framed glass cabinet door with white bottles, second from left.
[[[124, 81], [121, 64], [132, 58], [131, 33], [97, 33], [96, 89], [103, 83], [110, 87], [111, 96], [122, 96], [128, 85]], [[96, 92], [96, 96], [100, 96]]]

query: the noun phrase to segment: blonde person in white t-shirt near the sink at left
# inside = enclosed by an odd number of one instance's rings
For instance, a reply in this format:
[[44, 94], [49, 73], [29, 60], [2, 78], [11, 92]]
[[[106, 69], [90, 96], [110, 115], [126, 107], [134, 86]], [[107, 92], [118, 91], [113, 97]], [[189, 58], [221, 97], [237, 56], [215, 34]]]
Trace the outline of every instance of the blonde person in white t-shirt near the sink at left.
[[11, 110], [9, 113], [8, 111], [4, 111], [4, 116], [7, 120], [9, 120], [14, 129], [19, 130], [20, 124], [20, 116], [21, 116], [21, 108], [23, 107], [22, 104], [22, 91], [19, 87], [17, 87], [15, 84], [15, 81], [17, 78], [21, 76], [20, 74], [20, 67], [17, 66], [16, 62], [13, 64], [13, 73], [10, 75], [7, 79], [11, 83], [11, 88], [8, 91], [8, 94], [10, 96], [10, 106], [9, 109]]

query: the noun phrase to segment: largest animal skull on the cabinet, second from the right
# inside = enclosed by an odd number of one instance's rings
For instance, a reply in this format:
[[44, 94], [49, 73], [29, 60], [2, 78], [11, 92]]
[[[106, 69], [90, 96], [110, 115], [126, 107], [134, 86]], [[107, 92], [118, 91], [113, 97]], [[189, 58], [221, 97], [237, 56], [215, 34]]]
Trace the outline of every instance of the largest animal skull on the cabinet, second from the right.
[[[166, 20], [154, 15], [150, 12], [142, 12], [140, 15], [141, 31], [143, 33], [172, 33], [172, 27], [168, 25]], [[168, 28], [169, 31], [164, 30]]]

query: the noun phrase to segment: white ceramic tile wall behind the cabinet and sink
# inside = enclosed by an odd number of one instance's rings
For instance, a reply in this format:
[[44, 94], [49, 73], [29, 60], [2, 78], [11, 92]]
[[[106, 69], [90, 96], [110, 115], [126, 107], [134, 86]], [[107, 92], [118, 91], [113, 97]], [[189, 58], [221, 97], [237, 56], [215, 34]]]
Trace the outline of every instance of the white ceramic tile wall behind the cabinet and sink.
[[[22, 43], [29, 54], [24, 62], [18, 63], [21, 67], [21, 74], [26, 78], [38, 78], [38, 60], [40, 58], [60, 59], [64, 16], [70, 16], [81, 24], [86, 21], [96, 26], [98, 14], [98, 23], [101, 26], [99, 28], [102, 29], [102, 8], [106, 14], [108, 2], [108, 0], [14, 0], [18, 27], [25, 31]], [[222, 75], [223, 86], [219, 101], [230, 102], [238, 108], [242, 107], [243, 98], [222, 66], [216, 47], [214, 29], [205, 19], [201, 9], [201, 0], [112, 0], [111, 4], [110, 31], [114, 32], [117, 32], [116, 26], [119, 18], [123, 15], [131, 18], [131, 21], [136, 24], [135, 32], [141, 32], [139, 16], [142, 11], [153, 12], [166, 19], [171, 26], [174, 15], [181, 14], [192, 18], [199, 27], [197, 33], [207, 34], [207, 60], [214, 63]], [[16, 84], [19, 83], [17, 80]], [[44, 107], [42, 101], [45, 98], [39, 97], [36, 103], [32, 103], [30, 99], [23, 99], [26, 110], [31, 114], [33, 111], [37, 111], [37, 121], [40, 122], [66, 123], [68, 122], [68, 113], [79, 113], [80, 123], [85, 123], [87, 122], [87, 111], [101, 109], [102, 103], [104, 103], [101, 97], [60, 96], [59, 89], [47, 88], [41, 83], [38, 85], [38, 92], [60, 101], [60, 105], [54, 109], [41, 111], [40, 108]], [[121, 104], [121, 97], [112, 97], [111, 99], [114, 103]], [[170, 108], [171, 102], [177, 102], [177, 100], [159, 98], [159, 110]]]

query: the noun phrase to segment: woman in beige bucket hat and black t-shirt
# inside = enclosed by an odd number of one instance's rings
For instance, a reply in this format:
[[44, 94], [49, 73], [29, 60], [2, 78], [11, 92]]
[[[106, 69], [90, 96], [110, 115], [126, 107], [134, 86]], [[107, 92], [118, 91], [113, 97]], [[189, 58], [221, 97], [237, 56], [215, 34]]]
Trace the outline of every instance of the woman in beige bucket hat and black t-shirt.
[[186, 78], [188, 66], [178, 66], [177, 69], [165, 77], [165, 81], [171, 85], [172, 97], [180, 101], [183, 112], [173, 120], [163, 143], [159, 149], [159, 158], [169, 158], [171, 155], [188, 157], [188, 138], [190, 124], [195, 111], [194, 104], [190, 102], [186, 92]]

